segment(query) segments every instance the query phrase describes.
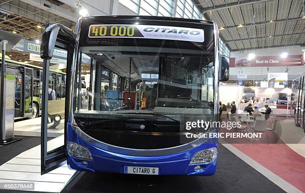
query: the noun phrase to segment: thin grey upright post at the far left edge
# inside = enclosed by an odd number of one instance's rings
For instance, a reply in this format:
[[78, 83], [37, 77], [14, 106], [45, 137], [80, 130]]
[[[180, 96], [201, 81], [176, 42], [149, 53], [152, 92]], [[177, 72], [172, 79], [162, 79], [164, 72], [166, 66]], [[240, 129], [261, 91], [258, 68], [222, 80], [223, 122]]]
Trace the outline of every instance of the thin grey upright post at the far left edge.
[[3, 143], [3, 132], [4, 132], [4, 110], [5, 107], [3, 105], [4, 101], [4, 74], [6, 71], [5, 66], [5, 45], [7, 44], [7, 40], [2, 40], [0, 42], [2, 45], [2, 64], [1, 64], [1, 88], [0, 88], [0, 143]]

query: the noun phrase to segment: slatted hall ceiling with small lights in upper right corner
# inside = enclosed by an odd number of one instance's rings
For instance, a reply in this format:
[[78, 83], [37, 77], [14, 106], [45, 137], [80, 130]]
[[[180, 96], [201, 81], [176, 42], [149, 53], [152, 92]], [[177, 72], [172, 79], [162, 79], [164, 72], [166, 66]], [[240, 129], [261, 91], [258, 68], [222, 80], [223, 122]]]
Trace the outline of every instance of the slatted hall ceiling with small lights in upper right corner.
[[[231, 51], [304, 45], [304, 0], [198, 0]], [[254, 19], [255, 15], [255, 19]]]

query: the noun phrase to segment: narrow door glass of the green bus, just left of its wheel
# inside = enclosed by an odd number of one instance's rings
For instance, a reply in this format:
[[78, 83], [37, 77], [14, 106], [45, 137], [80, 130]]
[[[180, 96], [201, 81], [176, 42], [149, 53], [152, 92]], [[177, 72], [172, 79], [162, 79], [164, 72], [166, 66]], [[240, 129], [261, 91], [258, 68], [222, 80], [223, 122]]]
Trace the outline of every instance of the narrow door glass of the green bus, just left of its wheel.
[[24, 116], [30, 116], [32, 114], [33, 103], [33, 69], [24, 68]]

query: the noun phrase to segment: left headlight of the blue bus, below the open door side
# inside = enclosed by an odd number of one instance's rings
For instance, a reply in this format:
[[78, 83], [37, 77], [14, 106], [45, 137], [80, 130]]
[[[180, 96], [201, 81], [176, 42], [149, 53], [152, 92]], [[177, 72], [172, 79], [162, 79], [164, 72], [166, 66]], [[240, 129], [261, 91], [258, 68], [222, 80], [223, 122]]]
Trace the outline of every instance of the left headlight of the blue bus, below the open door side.
[[93, 160], [89, 149], [71, 141], [67, 143], [68, 153], [76, 158], [83, 158], [87, 160]]

